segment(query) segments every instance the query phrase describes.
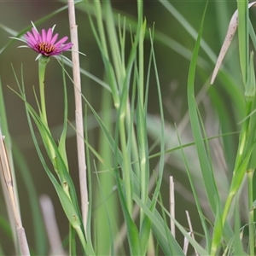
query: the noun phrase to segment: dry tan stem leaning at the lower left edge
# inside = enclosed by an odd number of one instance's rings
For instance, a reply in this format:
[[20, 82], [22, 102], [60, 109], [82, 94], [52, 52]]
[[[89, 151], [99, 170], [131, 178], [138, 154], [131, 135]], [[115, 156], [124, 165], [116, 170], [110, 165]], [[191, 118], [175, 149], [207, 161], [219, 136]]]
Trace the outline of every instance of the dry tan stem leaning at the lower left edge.
[[17, 197], [15, 194], [13, 178], [10, 170], [9, 157], [7, 153], [7, 149], [5, 147], [5, 143], [3, 140], [2, 131], [0, 129], [0, 177], [3, 181], [3, 189], [6, 189], [7, 195], [9, 198], [9, 205], [12, 209], [12, 214], [15, 218], [15, 225], [17, 231], [17, 237], [20, 246], [21, 255], [30, 255], [29, 247], [26, 241], [26, 233], [24, 228], [22, 227], [21, 218], [20, 218], [20, 210], [18, 206]]

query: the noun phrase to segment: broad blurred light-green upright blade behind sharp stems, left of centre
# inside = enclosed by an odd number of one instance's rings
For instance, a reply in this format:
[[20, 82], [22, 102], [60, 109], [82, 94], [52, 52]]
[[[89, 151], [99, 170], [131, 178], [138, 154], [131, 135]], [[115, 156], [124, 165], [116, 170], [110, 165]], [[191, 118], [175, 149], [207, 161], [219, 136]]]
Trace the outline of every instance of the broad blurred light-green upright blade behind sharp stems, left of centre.
[[[102, 92], [102, 123], [106, 126], [108, 131], [112, 131], [113, 124], [111, 120], [111, 107], [112, 96], [108, 90]], [[104, 132], [99, 135], [99, 154], [102, 156], [108, 166], [112, 166], [112, 154], [113, 152], [109, 148], [108, 139]], [[103, 170], [104, 165], [98, 163], [96, 170]], [[112, 192], [115, 185], [113, 172], [98, 172], [96, 171], [96, 177], [98, 181], [98, 187], [95, 194], [96, 204], [101, 204], [96, 208], [94, 217], [96, 218], [96, 253], [104, 254], [107, 252], [113, 253], [113, 227], [115, 224], [119, 224], [119, 203], [117, 202], [116, 195], [112, 195], [108, 198], [108, 195]]]

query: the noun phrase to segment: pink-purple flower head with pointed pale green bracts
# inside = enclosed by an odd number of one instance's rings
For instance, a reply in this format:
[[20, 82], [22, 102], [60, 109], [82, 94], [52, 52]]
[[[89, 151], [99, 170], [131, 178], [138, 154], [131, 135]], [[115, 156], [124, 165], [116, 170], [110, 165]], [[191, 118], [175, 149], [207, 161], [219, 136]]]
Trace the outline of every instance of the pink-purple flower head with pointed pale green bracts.
[[60, 55], [62, 51], [72, 48], [72, 43], [65, 44], [68, 39], [67, 37], [61, 38], [61, 40], [56, 42], [58, 34], [53, 33], [55, 26], [49, 28], [47, 32], [45, 29], [43, 29], [41, 33], [38, 32], [37, 27], [33, 23], [32, 26], [32, 32], [26, 32], [24, 35], [26, 40], [21, 38], [14, 39], [20, 40], [27, 44], [20, 47], [29, 47], [38, 52], [39, 55], [36, 60], [38, 60], [41, 55], [46, 57]]

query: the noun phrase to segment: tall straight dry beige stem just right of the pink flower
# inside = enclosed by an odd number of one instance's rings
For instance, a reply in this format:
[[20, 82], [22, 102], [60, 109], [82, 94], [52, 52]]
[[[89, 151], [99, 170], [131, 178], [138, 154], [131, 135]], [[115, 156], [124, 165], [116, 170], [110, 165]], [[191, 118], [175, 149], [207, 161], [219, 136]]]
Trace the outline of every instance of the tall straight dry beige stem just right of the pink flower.
[[84, 125], [83, 125], [83, 110], [81, 98], [81, 79], [80, 79], [80, 64], [79, 64], [79, 40], [78, 40], [78, 26], [76, 25], [74, 1], [68, 0], [68, 16], [71, 42], [73, 43], [72, 61], [73, 61], [73, 84], [75, 96], [75, 116], [76, 116], [76, 130], [77, 130], [77, 148], [79, 160], [79, 181], [81, 193], [81, 208], [84, 222], [84, 231], [86, 232], [87, 216], [88, 216], [88, 188], [84, 149]]

